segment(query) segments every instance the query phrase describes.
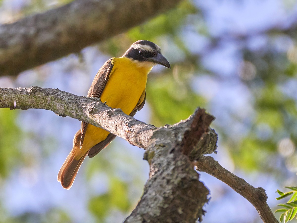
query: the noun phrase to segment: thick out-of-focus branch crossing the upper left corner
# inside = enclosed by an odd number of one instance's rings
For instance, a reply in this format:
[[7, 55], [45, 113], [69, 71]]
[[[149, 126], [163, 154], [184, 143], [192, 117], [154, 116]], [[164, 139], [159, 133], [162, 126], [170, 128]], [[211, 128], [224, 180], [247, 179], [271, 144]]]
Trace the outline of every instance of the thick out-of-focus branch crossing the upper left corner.
[[79, 52], [127, 31], [181, 0], [76, 0], [0, 25], [0, 76]]

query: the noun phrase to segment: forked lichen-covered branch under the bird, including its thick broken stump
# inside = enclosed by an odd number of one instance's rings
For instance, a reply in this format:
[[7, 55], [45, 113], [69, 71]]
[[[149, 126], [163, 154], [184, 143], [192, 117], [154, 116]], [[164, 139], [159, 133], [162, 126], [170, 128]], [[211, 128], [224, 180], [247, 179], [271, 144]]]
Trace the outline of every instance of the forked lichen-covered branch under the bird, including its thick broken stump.
[[[120, 109], [111, 109], [98, 98], [79, 97], [59, 89], [40, 87], [0, 88], [0, 108], [48, 109], [104, 128], [132, 145], [145, 148], [144, 158], [150, 164], [150, 178], [140, 202], [125, 222], [202, 221], [205, 213], [202, 207], [208, 202], [209, 192], [184, 154], [184, 145], [191, 145], [194, 154], [201, 154], [199, 150], [203, 149], [200, 147], [203, 144], [191, 136], [201, 136], [201, 139], [209, 136], [211, 139], [206, 141], [217, 140], [216, 134], [208, 134], [213, 131], [208, 125], [214, 117], [204, 109], [196, 110], [188, 119], [174, 125], [156, 128], [124, 114]], [[213, 151], [216, 143], [212, 145]], [[189, 150], [189, 154], [192, 151]]]

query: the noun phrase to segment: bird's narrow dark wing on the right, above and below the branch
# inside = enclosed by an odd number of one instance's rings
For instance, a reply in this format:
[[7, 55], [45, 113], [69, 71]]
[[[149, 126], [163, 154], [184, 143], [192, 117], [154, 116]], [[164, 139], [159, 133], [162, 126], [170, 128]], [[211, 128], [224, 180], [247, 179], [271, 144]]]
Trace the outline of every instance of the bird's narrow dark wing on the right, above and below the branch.
[[[129, 115], [133, 117], [137, 111], [140, 111], [143, 108], [145, 101], [146, 101], [146, 90], [143, 91], [142, 95], [138, 100], [137, 105]], [[89, 157], [92, 158], [96, 156], [101, 150], [107, 147], [108, 144], [110, 144], [110, 142], [113, 141], [114, 138], [116, 138], [116, 135], [111, 133], [108, 134], [105, 140], [103, 140], [102, 142], [99, 142], [97, 145], [94, 145], [89, 150]]]

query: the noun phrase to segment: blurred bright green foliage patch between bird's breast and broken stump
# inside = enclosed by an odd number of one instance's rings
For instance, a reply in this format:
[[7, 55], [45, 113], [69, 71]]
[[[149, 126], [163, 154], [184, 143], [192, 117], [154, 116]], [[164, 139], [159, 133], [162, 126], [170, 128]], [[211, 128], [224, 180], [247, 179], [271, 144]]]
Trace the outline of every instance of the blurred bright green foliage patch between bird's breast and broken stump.
[[177, 123], [189, 117], [197, 106], [205, 106], [204, 98], [195, 94], [187, 82], [174, 78], [169, 72], [148, 82], [146, 100], [154, 114], [152, 124], [161, 126]]

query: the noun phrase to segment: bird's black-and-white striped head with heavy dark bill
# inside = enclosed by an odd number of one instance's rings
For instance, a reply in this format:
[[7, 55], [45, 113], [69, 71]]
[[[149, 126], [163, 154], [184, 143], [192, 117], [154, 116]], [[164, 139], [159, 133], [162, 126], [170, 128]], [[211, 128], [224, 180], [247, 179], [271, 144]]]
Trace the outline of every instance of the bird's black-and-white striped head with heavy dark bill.
[[123, 57], [130, 58], [139, 65], [160, 64], [170, 69], [168, 60], [161, 54], [161, 48], [148, 40], [138, 40], [133, 43]]

